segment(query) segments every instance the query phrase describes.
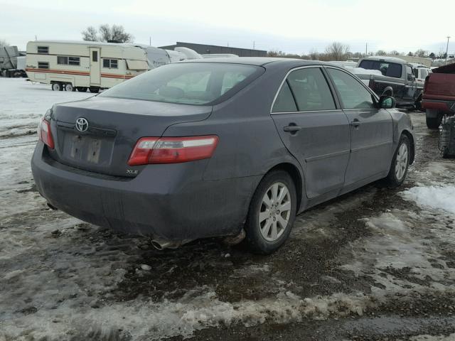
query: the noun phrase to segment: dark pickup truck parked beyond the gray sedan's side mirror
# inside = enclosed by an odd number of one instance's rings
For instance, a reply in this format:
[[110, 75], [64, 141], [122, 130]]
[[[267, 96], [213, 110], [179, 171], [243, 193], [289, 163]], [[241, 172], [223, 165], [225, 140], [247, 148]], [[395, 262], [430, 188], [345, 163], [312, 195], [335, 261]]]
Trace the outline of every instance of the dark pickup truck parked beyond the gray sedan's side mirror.
[[356, 72], [360, 79], [368, 81], [368, 86], [378, 96], [387, 94], [395, 97], [400, 108], [421, 108], [423, 83], [416, 81], [414, 67], [410, 63], [400, 58], [375, 56], [359, 60], [358, 67], [382, 73], [361, 75]]

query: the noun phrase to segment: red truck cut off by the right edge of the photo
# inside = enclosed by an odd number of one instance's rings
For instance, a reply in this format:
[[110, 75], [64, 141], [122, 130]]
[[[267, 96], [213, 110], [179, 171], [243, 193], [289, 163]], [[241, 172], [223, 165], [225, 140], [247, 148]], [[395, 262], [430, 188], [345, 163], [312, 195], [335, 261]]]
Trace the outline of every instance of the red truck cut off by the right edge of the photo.
[[455, 63], [432, 70], [424, 84], [422, 108], [429, 129], [438, 129], [444, 115], [455, 114]]

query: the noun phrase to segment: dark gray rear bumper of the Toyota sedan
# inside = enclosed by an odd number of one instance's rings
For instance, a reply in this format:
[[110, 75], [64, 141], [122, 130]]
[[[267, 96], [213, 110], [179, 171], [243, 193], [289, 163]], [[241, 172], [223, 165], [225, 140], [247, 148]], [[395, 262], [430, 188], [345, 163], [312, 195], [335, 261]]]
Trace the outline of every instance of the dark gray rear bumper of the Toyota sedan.
[[[183, 240], [235, 234], [260, 176], [203, 181], [206, 161], [146, 166], [113, 178], [53, 161], [41, 141], [31, 168], [48, 202], [85, 222], [130, 234]], [[95, 176], [96, 175], [96, 176]]]

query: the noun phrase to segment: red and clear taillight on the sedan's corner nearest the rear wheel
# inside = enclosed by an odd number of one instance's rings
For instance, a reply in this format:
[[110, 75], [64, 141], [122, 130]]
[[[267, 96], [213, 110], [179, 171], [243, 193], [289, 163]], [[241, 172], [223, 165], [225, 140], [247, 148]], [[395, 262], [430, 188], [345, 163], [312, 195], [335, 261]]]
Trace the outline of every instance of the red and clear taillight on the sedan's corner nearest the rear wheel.
[[181, 163], [210, 158], [218, 136], [142, 137], [128, 160], [129, 166], [150, 163]]

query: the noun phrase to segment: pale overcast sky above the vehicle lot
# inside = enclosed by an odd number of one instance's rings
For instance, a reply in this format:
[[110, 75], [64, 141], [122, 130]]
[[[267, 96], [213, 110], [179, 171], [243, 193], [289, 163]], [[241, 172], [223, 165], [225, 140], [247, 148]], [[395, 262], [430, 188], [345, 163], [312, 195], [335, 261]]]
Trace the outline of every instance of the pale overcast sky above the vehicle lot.
[[119, 24], [136, 43], [176, 41], [286, 53], [322, 52], [334, 40], [351, 52], [419, 48], [455, 53], [455, 0], [0, 0], [0, 39], [80, 40], [87, 26]]

